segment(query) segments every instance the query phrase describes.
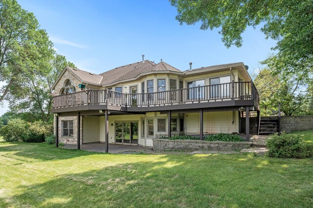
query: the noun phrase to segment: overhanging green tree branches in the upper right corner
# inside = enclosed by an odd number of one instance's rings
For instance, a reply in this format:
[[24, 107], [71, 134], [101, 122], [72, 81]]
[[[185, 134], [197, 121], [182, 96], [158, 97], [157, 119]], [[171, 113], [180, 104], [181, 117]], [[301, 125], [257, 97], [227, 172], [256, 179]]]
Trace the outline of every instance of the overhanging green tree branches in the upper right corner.
[[221, 28], [226, 47], [242, 46], [246, 27], [262, 24], [266, 38], [277, 41], [277, 52], [265, 62], [276, 73], [313, 72], [312, 0], [170, 0], [180, 24], [201, 21], [201, 29]]

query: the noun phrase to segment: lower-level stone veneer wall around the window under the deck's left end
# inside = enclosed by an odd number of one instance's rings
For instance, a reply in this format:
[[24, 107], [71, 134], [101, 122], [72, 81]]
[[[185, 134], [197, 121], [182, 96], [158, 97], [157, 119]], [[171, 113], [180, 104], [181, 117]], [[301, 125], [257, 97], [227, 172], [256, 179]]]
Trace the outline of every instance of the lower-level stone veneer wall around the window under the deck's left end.
[[[80, 124], [80, 144], [83, 143], [83, 119], [81, 117], [81, 124]], [[73, 136], [72, 137], [64, 137], [62, 136], [62, 121], [73, 120]], [[55, 118], [54, 118], [54, 134], [55, 134]], [[59, 116], [59, 144], [64, 143], [66, 145], [77, 145], [77, 116], [66, 116], [61, 117]]]

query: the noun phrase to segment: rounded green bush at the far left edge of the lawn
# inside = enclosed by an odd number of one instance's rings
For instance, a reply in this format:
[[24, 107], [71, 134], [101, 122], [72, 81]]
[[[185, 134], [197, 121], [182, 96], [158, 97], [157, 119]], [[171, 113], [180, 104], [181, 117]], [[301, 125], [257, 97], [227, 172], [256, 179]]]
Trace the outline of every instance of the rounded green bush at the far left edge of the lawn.
[[22, 141], [24, 135], [27, 134], [29, 123], [22, 119], [12, 119], [7, 125], [0, 129], [0, 135], [6, 142]]

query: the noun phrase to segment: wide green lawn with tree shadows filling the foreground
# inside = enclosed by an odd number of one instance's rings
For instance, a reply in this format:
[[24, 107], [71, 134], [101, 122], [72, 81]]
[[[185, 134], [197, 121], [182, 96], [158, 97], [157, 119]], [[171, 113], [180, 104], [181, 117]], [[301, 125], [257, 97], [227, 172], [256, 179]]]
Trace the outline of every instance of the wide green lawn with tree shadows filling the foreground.
[[313, 159], [0, 142], [0, 207], [312, 207]]

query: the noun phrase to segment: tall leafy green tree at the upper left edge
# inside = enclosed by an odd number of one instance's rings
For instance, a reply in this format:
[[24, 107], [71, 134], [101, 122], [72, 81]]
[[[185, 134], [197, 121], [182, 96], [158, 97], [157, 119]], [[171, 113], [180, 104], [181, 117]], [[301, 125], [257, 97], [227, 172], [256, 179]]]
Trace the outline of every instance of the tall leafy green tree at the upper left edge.
[[16, 0], [0, 0], [0, 102], [11, 94], [27, 93], [24, 77], [42, 66], [52, 43], [32, 13]]

